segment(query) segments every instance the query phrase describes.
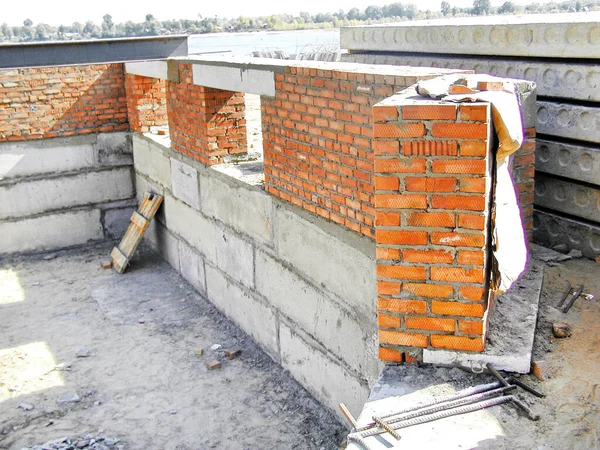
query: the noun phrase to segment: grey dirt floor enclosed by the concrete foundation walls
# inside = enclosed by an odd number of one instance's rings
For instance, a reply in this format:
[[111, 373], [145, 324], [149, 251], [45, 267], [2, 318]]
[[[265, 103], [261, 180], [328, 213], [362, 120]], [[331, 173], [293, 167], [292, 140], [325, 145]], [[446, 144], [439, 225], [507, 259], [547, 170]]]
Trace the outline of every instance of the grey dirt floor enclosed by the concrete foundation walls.
[[88, 434], [122, 449], [338, 448], [333, 415], [164, 260], [142, 246], [117, 275], [109, 252], [0, 260], [0, 449]]

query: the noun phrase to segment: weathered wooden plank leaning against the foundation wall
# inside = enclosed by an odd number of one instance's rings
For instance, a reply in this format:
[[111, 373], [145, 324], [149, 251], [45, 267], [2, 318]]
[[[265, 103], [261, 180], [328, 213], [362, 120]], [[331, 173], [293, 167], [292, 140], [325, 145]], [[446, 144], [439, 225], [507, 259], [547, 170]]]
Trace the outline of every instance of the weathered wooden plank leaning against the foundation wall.
[[129, 264], [129, 260], [135, 253], [139, 243], [150, 224], [150, 221], [162, 204], [163, 197], [151, 192], [144, 193], [144, 199], [140, 207], [131, 215], [131, 223], [121, 239], [118, 247], [113, 248], [110, 256], [113, 267], [118, 273], [123, 273]]

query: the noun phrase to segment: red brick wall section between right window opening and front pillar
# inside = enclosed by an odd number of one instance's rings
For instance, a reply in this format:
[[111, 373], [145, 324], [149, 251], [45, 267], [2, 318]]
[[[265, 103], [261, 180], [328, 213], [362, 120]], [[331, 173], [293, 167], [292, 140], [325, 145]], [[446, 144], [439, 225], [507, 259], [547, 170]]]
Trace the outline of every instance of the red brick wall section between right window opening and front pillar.
[[262, 98], [271, 194], [374, 236], [372, 105], [415, 77], [288, 67]]

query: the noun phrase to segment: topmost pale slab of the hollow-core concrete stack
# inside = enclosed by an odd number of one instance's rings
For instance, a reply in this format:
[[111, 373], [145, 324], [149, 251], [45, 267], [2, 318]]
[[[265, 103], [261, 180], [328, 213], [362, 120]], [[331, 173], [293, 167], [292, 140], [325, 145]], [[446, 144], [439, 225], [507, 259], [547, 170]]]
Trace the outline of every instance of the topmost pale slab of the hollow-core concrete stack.
[[342, 28], [340, 42], [352, 51], [598, 58], [599, 21], [599, 12], [460, 17]]

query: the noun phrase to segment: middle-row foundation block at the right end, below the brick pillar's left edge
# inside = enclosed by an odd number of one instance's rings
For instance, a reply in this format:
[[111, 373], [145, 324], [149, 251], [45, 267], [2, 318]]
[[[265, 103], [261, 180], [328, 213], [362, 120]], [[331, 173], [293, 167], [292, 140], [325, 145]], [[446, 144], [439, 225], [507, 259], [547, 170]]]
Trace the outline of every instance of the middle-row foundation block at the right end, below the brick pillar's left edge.
[[262, 251], [256, 253], [256, 291], [365, 378], [377, 377], [375, 311], [370, 322], [359, 323], [347, 307]]

